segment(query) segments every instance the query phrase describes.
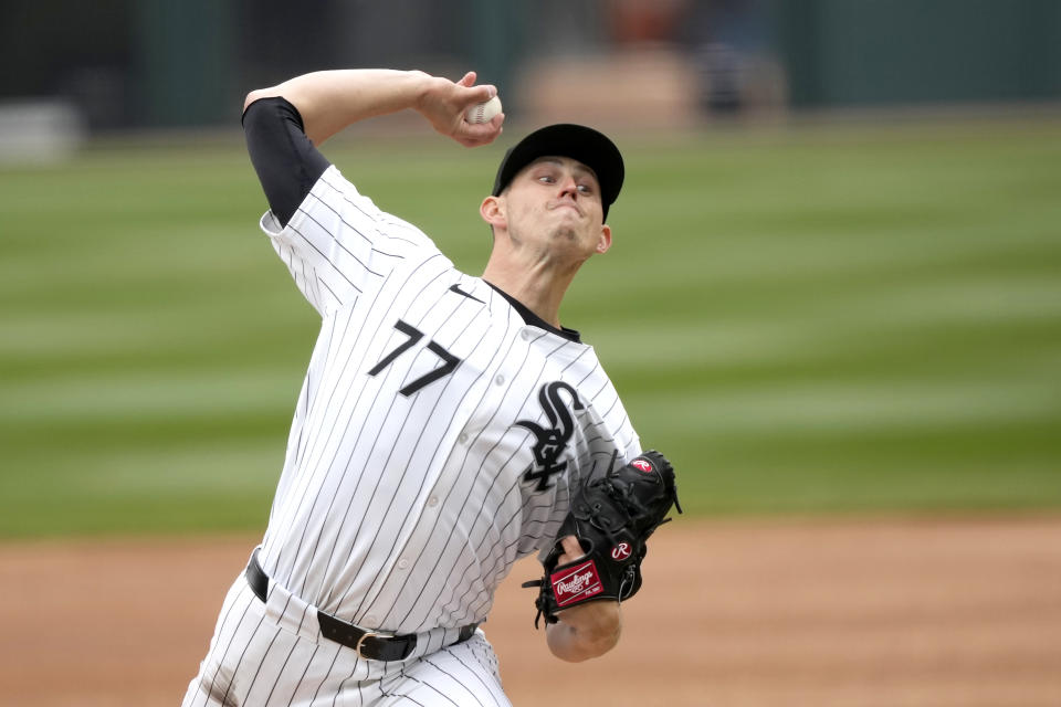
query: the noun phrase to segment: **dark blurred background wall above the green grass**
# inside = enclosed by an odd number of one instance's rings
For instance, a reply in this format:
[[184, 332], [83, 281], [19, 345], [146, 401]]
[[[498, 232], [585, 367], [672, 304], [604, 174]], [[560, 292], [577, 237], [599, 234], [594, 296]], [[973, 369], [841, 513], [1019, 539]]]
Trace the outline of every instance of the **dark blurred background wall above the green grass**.
[[231, 125], [248, 89], [338, 66], [454, 78], [474, 67], [498, 85], [506, 107], [545, 114], [574, 82], [586, 112], [638, 119], [631, 106], [644, 104], [644, 115], [675, 122], [1061, 96], [1055, 0], [3, 0], [2, 8], [0, 102], [57, 102], [91, 131]]

